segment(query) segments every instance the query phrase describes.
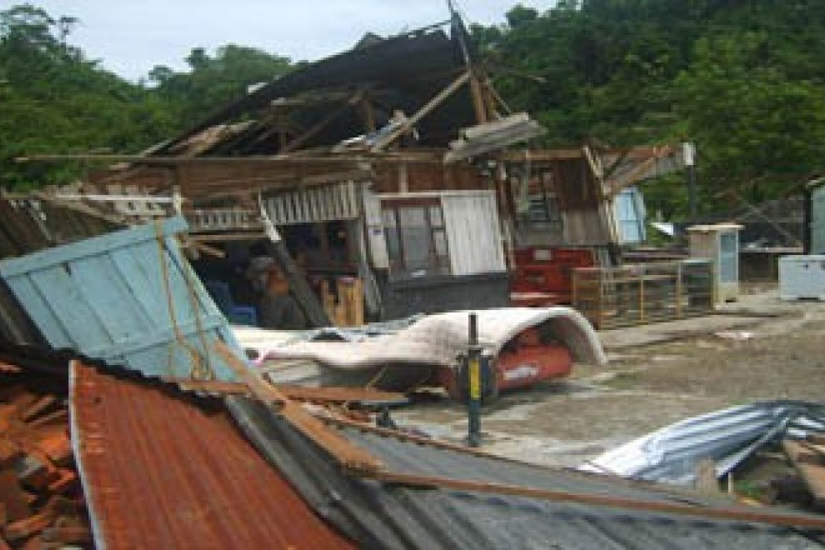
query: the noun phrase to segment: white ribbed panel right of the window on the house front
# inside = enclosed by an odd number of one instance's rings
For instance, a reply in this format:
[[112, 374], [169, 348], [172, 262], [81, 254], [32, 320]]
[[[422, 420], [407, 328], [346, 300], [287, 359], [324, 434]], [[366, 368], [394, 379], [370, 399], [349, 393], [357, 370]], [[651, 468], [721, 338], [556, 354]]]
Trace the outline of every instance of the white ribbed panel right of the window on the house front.
[[441, 206], [453, 275], [507, 270], [493, 191], [447, 193]]

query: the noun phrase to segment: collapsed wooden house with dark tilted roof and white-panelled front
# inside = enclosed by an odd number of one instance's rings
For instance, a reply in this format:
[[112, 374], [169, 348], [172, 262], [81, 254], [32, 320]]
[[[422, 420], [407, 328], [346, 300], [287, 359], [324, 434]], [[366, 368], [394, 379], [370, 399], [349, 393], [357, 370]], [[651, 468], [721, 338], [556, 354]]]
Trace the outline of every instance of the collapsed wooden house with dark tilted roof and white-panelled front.
[[368, 35], [144, 155], [87, 156], [120, 164], [40, 198], [126, 222], [184, 214], [193, 249], [223, 258], [201, 275], [228, 283], [224, 302], [245, 301], [239, 265], [276, 256], [314, 325], [337, 317], [328, 289], [342, 278], [359, 281], [373, 319], [500, 307], [529, 247], [618, 261], [643, 237], [629, 188], [681, 163], [672, 147], [527, 147], [543, 131], [509, 111], [454, 18]]

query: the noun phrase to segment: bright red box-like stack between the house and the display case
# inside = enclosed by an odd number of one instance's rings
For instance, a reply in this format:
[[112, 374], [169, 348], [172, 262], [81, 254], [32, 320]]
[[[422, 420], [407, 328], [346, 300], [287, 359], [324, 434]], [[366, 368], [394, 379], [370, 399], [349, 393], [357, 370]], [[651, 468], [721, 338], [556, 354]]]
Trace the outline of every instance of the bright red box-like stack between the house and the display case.
[[513, 256], [510, 300], [516, 306], [570, 303], [573, 268], [596, 265], [589, 248], [528, 247]]

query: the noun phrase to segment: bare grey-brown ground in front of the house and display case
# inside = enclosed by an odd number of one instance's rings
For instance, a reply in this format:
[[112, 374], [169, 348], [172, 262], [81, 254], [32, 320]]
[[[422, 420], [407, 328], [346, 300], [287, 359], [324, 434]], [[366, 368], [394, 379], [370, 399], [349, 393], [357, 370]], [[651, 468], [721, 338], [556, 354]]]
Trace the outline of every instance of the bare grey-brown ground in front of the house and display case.
[[[502, 396], [484, 408], [484, 449], [575, 466], [663, 425], [771, 399], [823, 400], [825, 303], [782, 303], [775, 292], [729, 313], [604, 331], [605, 367]], [[741, 340], [740, 340], [741, 338]], [[395, 411], [400, 424], [461, 440], [464, 408], [447, 400]]]

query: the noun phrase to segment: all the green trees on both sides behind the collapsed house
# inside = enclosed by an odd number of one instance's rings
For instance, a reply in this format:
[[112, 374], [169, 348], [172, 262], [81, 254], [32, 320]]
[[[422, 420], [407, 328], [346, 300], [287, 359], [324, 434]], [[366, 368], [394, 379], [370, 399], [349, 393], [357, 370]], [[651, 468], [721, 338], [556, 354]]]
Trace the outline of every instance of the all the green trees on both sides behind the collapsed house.
[[[184, 72], [158, 66], [128, 82], [70, 44], [75, 23], [30, 5], [0, 12], [2, 186], [78, 175], [17, 155], [136, 152], [294, 67], [226, 45], [192, 49]], [[705, 211], [735, 203], [724, 190], [761, 200], [825, 173], [825, 0], [559, 0], [472, 34], [502, 96], [549, 129], [549, 146], [697, 143]], [[678, 217], [682, 182], [649, 186], [648, 199]]]

